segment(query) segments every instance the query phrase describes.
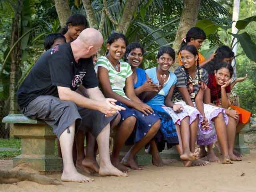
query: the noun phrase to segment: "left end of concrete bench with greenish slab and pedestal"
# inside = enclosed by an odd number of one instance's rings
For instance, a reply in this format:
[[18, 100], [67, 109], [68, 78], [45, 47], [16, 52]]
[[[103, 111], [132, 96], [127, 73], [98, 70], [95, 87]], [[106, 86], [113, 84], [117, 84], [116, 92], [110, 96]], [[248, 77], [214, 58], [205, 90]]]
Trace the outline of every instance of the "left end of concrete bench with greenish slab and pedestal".
[[2, 122], [14, 124], [13, 135], [21, 138], [21, 154], [13, 158], [13, 167], [28, 163], [42, 174], [62, 171], [62, 158], [54, 154], [56, 136], [48, 124], [21, 114], [9, 114]]

